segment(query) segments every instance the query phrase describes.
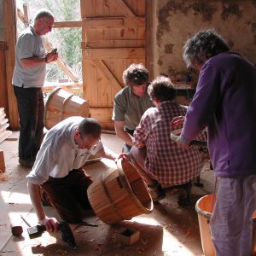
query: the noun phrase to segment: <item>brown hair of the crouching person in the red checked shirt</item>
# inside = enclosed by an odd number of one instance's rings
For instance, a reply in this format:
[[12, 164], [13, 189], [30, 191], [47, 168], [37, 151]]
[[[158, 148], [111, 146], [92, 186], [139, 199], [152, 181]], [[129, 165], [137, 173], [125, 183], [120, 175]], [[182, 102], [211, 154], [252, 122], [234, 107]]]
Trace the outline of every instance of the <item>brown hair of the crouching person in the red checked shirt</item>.
[[172, 102], [176, 97], [176, 89], [172, 84], [171, 79], [165, 75], [160, 75], [148, 85], [148, 95], [152, 100]]

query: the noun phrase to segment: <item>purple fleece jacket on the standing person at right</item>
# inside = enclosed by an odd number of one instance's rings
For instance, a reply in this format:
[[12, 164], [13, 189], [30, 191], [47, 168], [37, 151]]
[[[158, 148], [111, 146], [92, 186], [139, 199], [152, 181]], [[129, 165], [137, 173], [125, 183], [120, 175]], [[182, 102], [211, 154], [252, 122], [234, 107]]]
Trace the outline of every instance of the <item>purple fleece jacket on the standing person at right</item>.
[[216, 176], [256, 174], [256, 68], [237, 53], [213, 56], [201, 68], [182, 137], [192, 140], [206, 126]]

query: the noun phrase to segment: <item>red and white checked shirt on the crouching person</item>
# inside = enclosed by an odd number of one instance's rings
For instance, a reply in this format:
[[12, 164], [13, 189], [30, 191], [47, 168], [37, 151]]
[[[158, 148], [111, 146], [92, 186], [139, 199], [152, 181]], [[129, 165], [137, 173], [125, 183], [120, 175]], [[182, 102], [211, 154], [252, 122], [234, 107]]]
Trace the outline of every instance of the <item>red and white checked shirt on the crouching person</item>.
[[175, 102], [162, 102], [157, 108], [148, 108], [134, 133], [137, 148], [147, 148], [146, 172], [160, 184], [182, 184], [197, 177], [203, 166], [198, 148], [177, 148], [171, 140], [171, 121], [185, 115], [186, 107]]

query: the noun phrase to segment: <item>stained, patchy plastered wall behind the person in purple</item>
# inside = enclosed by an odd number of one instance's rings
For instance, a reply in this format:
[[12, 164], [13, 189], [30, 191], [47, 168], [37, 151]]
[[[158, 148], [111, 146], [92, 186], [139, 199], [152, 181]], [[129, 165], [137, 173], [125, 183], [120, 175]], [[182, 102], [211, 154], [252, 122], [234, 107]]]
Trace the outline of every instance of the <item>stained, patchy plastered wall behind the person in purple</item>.
[[[157, 0], [154, 75], [183, 80], [183, 42], [201, 29], [215, 28], [230, 44], [256, 63], [256, 1]], [[193, 79], [197, 74], [192, 73]]]

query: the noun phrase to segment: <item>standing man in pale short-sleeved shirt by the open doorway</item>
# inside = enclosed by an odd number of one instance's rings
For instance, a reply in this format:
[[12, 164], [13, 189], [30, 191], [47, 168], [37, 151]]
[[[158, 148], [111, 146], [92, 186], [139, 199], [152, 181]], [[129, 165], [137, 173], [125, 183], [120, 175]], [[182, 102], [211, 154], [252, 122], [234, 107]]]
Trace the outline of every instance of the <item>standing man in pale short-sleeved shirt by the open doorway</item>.
[[42, 36], [52, 30], [54, 16], [41, 9], [33, 26], [20, 33], [16, 44], [16, 61], [13, 76], [15, 96], [20, 116], [19, 162], [32, 167], [44, 129], [44, 85], [46, 63], [58, 57], [54, 51], [45, 54]]

